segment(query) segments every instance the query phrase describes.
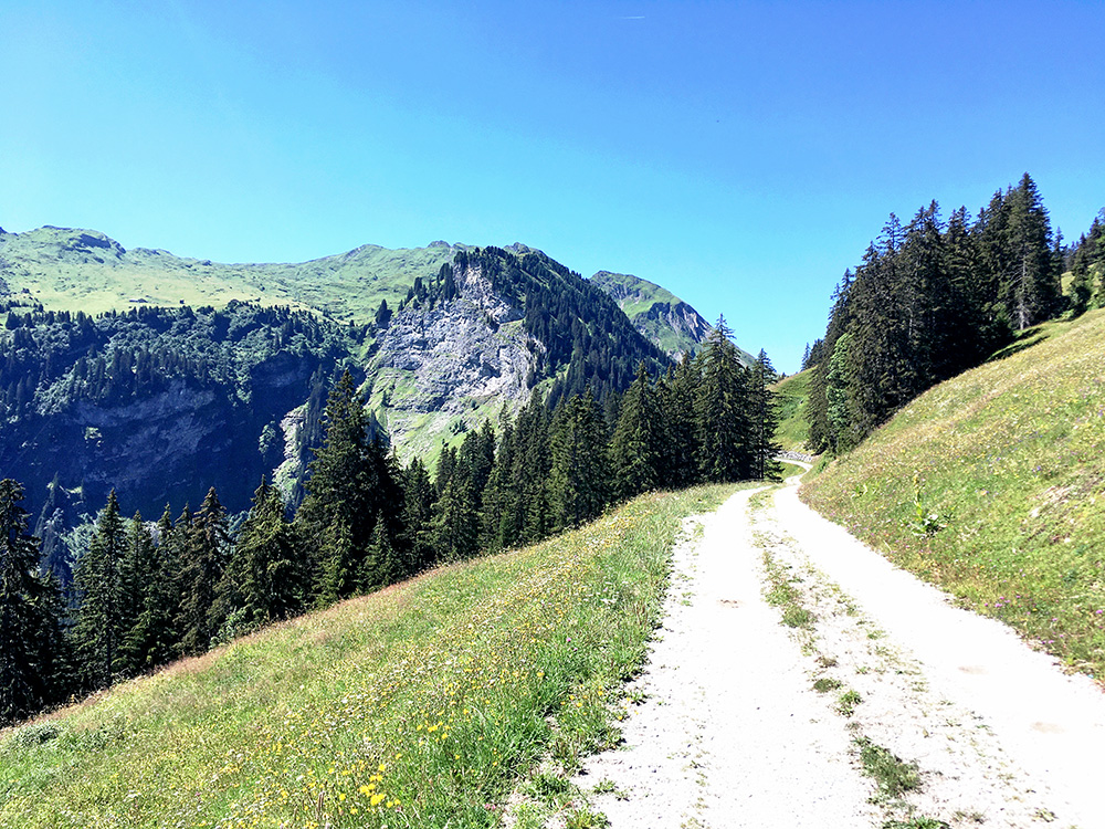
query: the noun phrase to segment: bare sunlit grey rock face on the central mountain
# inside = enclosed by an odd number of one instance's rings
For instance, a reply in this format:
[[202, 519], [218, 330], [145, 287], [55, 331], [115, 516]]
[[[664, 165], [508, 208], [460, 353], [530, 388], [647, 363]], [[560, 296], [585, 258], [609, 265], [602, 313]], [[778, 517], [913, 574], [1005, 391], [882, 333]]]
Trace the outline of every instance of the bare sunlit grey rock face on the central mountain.
[[459, 295], [396, 314], [367, 369], [369, 408], [404, 455], [427, 452], [451, 428], [478, 426], [491, 405], [525, 403], [544, 349], [478, 267], [454, 266], [453, 276]]

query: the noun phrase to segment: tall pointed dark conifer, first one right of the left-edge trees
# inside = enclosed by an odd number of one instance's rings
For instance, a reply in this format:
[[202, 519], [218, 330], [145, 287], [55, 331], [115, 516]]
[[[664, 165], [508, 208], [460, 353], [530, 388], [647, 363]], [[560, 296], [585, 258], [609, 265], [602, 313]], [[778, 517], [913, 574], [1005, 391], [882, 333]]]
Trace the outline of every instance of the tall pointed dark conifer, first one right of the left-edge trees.
[[73, 573], [78, 597], [74, 648], [83, 664], [86, 683], [93, 689], [110, 685], [124, 668], [120, 644], [127, 633], [126, 554], [126, 528], [119, 516], [115, 490], [112, 490], [96, 522], [92, 542]]

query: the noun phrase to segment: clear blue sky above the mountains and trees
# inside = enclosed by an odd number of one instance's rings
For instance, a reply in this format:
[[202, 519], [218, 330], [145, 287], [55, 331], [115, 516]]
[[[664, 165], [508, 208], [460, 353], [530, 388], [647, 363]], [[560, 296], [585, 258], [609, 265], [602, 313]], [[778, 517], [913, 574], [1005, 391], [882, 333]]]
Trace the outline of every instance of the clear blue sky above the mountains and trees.
[[0, 225], [225, 262], [522, 241], [797, 369], [888, 213], [1105, 206], [1094, 2], [4, 0]]

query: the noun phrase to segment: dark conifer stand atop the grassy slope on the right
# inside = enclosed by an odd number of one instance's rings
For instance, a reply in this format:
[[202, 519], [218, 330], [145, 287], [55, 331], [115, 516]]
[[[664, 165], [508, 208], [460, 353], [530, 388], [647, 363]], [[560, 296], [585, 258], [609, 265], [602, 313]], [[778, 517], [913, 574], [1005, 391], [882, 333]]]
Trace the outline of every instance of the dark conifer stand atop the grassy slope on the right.
[[1077, 269], [1074, 312], [1105, 304], [1105, 287], [1094, 293], [1105, 258], [1101, 222], [1094, 228], [1067, 251], [1028, 174], [975, 218], [959, 208], [944, 221], [935, 201], [905, 227], [892, 213], [844, 273], [825, 335], [807, 349], [810, 448], [851, 449], [930, 386], [1064, 312], [1069, 259]]

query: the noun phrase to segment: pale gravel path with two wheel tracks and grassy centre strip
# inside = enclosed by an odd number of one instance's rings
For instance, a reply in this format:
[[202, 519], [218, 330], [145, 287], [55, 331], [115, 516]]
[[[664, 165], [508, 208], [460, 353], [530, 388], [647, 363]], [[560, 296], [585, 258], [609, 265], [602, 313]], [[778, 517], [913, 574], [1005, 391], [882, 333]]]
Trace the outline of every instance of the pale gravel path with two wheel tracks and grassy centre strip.
[[[575, 779], [604, 791], [590, 799], [612, 829], [1105, 827], [1093, 683], [895, 570], [793, 484], [739, 492], [698, 521], [629, 690], [624, 749]], [[812, 625], [780, 623], [768, 566]], [[918, 785], [876, 785], [856, 741]]]

